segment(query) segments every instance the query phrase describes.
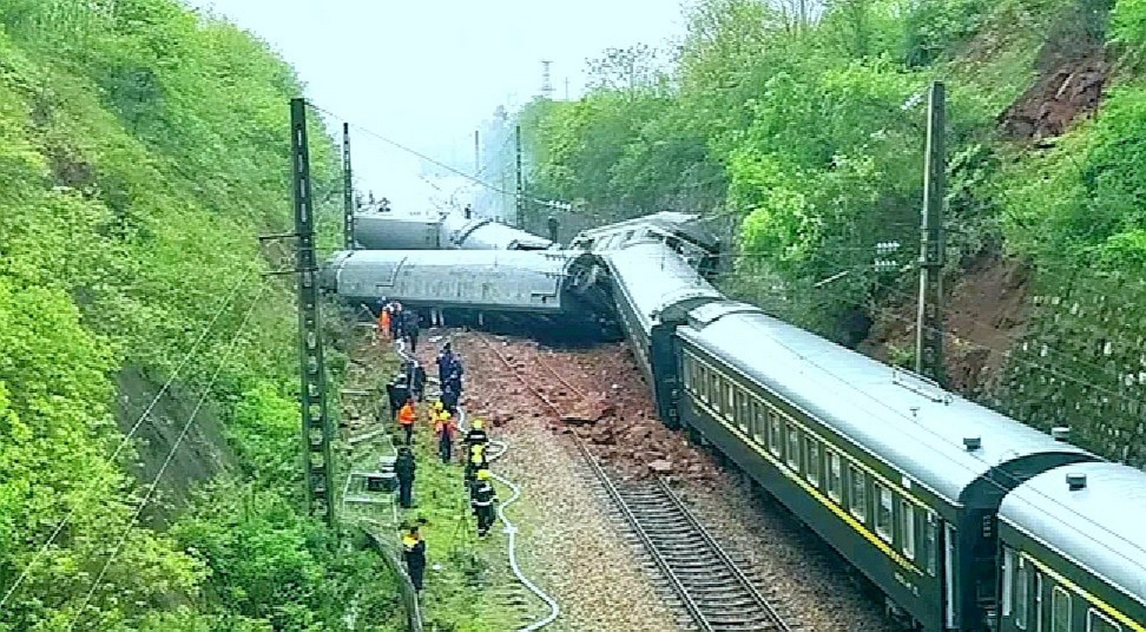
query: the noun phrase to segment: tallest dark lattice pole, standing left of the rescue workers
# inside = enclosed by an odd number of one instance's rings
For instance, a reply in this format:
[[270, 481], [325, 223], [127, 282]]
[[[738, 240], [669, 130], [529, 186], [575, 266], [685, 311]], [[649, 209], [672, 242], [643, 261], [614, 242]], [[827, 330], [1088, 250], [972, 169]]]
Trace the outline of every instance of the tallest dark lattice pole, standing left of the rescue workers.
[[306, 101], [291, 99], [291, 172], [295, 188], [295, 236], [298, 244], [298, 349], [303, 376], [303, 460], [307, 509], [335, 523], [335, 463], [330, 416], [327, 414], [327, 372], [322, 358], [322, 320], [319, 313], [317, 265], [314, 256], [314, 202], [311, 151], [306, 138]]

